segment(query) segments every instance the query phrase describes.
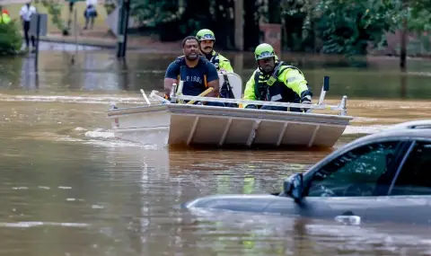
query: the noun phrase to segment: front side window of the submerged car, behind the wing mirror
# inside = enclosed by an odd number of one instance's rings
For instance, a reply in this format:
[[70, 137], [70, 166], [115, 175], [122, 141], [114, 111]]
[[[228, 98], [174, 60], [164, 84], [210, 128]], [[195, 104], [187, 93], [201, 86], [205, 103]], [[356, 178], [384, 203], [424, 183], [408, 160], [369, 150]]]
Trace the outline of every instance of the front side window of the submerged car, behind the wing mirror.
[[313, 174], [305, 195], [364, 197], [382, 190], [386, 193], [391, 183], [388, 166], [399, 145], [398, 141], [374, 143], [341, 154]]

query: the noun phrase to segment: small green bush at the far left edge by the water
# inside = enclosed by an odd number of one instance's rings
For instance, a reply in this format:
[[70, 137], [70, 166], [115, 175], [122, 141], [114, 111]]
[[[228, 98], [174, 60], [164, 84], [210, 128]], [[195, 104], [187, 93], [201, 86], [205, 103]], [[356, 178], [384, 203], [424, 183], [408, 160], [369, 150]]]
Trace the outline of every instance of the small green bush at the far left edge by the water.
[[14, 55], [22, 47], [22, 35], [15, 22], [0, 23], [0, 55]]

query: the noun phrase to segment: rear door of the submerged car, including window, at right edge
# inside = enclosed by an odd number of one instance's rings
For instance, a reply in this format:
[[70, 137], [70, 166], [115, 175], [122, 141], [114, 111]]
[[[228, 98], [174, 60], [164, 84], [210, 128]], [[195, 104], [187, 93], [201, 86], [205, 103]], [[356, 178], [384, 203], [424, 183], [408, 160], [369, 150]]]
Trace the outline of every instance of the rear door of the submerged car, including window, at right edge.
[[373, 221], [431, 225], [431, 139], [409, 146], [388, 196], [377, 198], [367, 209]]

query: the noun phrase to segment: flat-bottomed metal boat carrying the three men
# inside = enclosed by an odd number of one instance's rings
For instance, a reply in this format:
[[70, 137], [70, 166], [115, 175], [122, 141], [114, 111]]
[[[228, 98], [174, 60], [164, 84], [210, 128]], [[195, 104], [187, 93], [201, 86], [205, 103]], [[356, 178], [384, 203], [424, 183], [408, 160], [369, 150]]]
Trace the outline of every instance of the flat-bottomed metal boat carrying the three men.
[[[236, 74], [228, 76], [235, 99], [176, 95], [172, 90], [172, 103], [153, 91], [150, 98], [156, 103], [152, 104], [141, 91], [147, 102], [146, 106], [109, 110], [108, 117], [113, 120], [115, 137], [154, 144], [151, 138], [157, 135], [159, 143], [184, 146], [331, 147], [352, 119], [347, 116], [347, 96], [343, 96], [336, 106], [323, 103], [326, 92], [329, 91], [328, 76], [323, 79], [317, 104], [241, 100], [238, 88], [242, 92], [242, 80], [238, 77], [240, 76]], [[308, 110], [290, 112], [175, 103], [180, 100], [250, 103]], [[334, 110], [338, 113], [312, 113], [312, 110]], [[160, 141], [160, 136], [164, 138], [163, 142]]]

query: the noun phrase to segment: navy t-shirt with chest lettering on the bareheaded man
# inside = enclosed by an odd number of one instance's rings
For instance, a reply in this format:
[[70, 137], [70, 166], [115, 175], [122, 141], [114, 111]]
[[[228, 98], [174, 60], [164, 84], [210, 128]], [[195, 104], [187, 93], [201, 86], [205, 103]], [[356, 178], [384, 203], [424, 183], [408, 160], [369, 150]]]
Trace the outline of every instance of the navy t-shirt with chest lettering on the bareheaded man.
[[[183, 66], [182, 72], [180, 72], [180, 66]], [[205, 76], [207, 76], [207, 83], [218, 79], [216, 66], [203, 57], [199, 58], [198, 65], [194, 67], [187, 66], [184, 57], [180, 61], [174, 60], [166, 69], [164, 77], [178, 80], [178, 75], [184, 81], [182, 94], [189, 96], [198, 96], [207, 90]]]

